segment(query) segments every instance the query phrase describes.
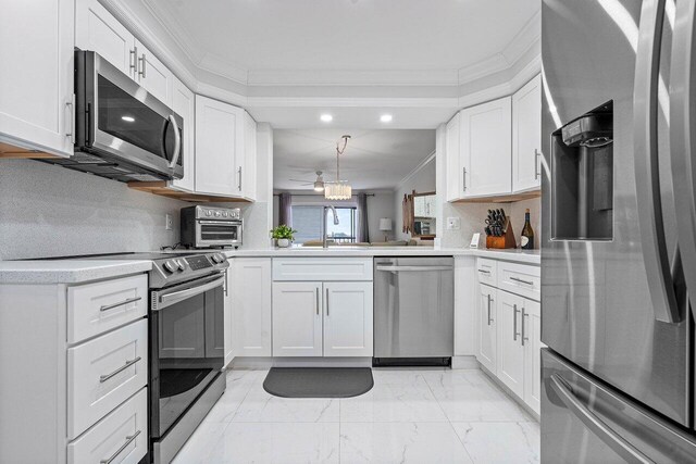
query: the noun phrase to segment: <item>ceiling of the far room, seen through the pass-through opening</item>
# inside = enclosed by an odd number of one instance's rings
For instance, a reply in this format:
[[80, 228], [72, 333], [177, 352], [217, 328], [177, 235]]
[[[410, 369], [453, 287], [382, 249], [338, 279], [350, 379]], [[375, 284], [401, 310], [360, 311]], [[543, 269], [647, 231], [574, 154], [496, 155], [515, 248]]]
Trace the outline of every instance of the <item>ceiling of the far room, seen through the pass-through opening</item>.
[[306, 129], [274, 130], [273, 188], [311, 190], [289, 179], [313, 181], [315, 171], [324, 180], [336, 178], [336, 142], [348, 134], [340, 156], [340, 177], [353, 190], [395, 188], [435, 150], [435, 130], [427, 129]]

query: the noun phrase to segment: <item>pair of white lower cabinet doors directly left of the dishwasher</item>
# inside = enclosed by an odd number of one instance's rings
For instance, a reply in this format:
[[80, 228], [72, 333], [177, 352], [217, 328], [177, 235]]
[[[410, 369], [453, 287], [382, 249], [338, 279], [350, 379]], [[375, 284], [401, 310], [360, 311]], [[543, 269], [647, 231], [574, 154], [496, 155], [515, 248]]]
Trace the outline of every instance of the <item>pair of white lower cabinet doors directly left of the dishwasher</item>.
[[273, 284], [274, 356], [372, 356], [372, 283]]

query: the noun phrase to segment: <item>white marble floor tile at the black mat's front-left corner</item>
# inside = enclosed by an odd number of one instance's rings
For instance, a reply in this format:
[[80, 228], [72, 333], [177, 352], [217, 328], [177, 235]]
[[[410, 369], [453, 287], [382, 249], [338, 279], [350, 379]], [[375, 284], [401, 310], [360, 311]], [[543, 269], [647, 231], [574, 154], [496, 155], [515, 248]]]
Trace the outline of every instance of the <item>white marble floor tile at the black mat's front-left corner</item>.
[[265, 374], [259, 375], [232, 422], [338, 422], [337, 399], [279, 398], [263, 389]]

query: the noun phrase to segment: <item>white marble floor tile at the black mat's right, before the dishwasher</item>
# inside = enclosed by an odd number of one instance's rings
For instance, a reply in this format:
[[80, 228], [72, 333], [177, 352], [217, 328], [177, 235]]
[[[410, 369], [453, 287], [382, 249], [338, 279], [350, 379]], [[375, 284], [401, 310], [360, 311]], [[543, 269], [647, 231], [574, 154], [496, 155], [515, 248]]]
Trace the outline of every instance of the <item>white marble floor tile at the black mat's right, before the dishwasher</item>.
[[381, 381], [369, 392], [340, 400], [340, 422], [447, 422], [420, 374]]

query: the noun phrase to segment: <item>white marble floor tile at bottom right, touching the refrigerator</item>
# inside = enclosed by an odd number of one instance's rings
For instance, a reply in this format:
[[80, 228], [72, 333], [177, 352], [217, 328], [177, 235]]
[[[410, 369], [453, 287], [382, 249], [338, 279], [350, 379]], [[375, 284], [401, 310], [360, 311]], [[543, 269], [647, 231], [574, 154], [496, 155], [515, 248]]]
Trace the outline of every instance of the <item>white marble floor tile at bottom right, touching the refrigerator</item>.
[[452, 423], [474, 463], [539, 462], [539, 425], [530, 422]]

